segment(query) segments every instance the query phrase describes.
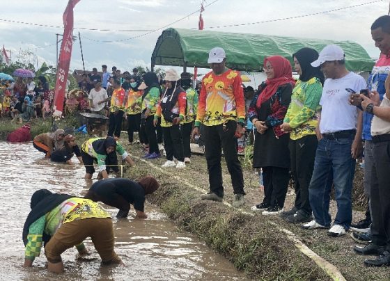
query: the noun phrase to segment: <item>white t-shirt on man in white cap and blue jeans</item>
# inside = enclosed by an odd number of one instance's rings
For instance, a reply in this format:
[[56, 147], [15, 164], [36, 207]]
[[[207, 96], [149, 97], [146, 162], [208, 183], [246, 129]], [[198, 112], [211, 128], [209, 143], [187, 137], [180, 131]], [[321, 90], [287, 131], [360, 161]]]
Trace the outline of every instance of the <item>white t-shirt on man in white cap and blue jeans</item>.
[[356, 129], [359, 109], [348, 102], [351, 94], [345, 90], [346, 88], [360, 93], [361, 89], [367, 88], [367, 84], [363, 77], [353, 72], [339, 79], [325, 80], [320, 100], [321, 134]]

